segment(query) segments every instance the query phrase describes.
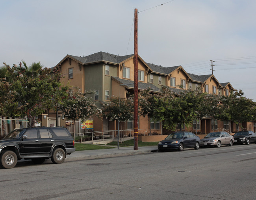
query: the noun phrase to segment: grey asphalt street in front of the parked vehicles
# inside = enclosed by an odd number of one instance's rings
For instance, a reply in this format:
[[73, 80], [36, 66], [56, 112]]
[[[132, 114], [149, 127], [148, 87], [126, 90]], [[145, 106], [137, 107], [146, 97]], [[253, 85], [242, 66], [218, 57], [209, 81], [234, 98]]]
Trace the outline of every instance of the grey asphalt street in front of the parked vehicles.
[[[117, 149], [116, 149], [117, 150]], [[0, 169], [0, 200], [255, 199], [256, 144]]]

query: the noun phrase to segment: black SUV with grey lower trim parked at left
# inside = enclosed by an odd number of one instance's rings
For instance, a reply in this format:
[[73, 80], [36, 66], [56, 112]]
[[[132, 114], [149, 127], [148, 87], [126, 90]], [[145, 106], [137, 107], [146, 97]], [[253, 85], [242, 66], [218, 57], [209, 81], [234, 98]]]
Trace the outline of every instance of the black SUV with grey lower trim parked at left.
[[51, 158], [54, 164], [60, 164], [75, 150], [74, 140], [65, 128], [15, 129], [0, 140], [0, 166], [13, 168], [22, 158], [35, 164]]

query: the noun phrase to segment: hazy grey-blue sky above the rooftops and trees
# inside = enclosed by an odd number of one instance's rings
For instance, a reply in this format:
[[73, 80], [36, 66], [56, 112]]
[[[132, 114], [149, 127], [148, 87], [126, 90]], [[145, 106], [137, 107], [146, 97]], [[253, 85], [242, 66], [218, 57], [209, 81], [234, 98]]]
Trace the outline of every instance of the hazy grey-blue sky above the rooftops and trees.
[[133, 54], [137, 8], [145, 62], [207, 75], [214, 60], [220, 83], [256, 101], [255, 0], [0, 0], [0, 8], [1, 64]]

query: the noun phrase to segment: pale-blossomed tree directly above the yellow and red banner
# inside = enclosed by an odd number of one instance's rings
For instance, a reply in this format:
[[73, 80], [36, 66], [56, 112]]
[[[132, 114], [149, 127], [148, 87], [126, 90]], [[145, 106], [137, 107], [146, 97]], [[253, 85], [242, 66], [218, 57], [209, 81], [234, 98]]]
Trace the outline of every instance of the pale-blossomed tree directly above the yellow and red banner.
[[[65, 99], [65, 102], [60, 105], [60, 110], [63, 112], [63, 115], [73, 120], [81, 119], [86, 120], [89, 117], [94, 115], [100, 116], [102, 111], [99, 109], [93, 100], [86, 96], [92, 94], [93, 92], [82, 93], [80, 89], [69, 89], [68, 96]], [[75, 133], [75, 126], [74, 126]]]

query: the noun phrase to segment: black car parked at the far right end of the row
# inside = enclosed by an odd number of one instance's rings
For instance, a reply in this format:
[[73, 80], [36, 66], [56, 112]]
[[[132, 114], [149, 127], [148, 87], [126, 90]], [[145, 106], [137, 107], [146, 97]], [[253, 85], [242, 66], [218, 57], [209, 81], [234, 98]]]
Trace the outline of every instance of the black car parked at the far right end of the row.
[[253, 131], [238, 131], [234, 135], [234, 142], [237, 144], [256, 143], [256, 134]]

